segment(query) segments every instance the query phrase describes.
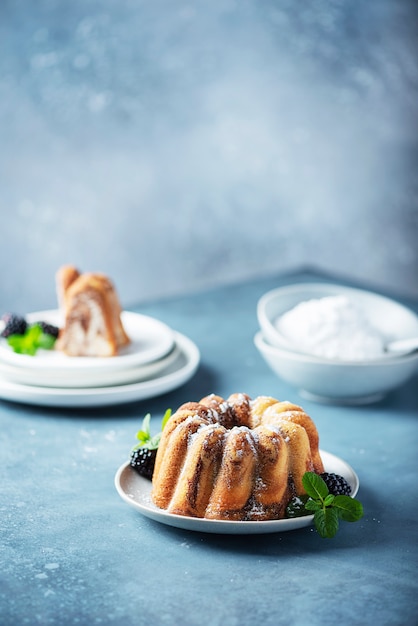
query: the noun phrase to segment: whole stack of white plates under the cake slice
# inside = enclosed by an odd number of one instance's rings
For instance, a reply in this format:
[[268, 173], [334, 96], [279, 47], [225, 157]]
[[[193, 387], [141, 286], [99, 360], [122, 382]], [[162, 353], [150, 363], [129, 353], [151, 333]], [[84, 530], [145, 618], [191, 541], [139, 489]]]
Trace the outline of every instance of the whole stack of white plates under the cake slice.
[[[27, 319], [62, 325], [55, 310]], [[114, 405], [158, 396], [194, 375], [200, 354], [186, 336], [138, 313], [124, 311], [122, 322], [131, 343], [114, 357], [70, 357], [58, 350], [29, 356], [1, 339], [0, 398], [43, 406]]]

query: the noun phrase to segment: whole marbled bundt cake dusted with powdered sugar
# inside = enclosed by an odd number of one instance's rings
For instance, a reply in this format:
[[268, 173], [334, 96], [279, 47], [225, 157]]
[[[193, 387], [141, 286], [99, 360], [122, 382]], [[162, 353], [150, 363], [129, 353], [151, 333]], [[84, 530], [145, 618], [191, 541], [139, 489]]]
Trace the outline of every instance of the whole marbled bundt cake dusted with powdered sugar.
[[169, 419], [152, 478], [154, 504], [217, 520], [281, 519], [302, 476], [324, 471], [318, 433], [290, 402], [214, 394], [183, 404]]

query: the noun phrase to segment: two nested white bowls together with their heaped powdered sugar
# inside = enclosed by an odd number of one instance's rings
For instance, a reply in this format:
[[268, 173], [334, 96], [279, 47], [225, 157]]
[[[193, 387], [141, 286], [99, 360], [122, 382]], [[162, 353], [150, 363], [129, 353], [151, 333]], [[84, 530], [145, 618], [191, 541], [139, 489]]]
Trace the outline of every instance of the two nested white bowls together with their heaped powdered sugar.
[[418, 372], [418, 353], [387, 342], [418, 336], [418, 316], [361, 289], [307, 283], [274, 289], [257, 305], [260, 354], [302, 395], [322, 401], [377, 400]]

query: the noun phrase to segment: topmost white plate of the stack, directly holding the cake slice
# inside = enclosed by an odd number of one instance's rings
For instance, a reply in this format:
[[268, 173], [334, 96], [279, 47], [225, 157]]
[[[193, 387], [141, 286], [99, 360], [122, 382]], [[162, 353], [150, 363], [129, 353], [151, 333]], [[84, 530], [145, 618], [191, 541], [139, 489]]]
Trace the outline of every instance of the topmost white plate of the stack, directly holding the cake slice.
[[[26, 316], [29, 322], [46, 321], [56, 326], [62, 326], [60, 311], [38, 311]], [[69, 376], [80, 370], [93, 373], [96, 370], [116, 370], [128, 367], [137, 367], [162, 358], [174, 346], [173, 331], [169, 326], [153, 317], [123, 311], [121, 316], [124, 328], [131, 343], [123, 348], [119, 355], [114, 357], [75, 357], [67, 356], [59, 350], [39, 350], [35, 356], [17, 354], [8, 345], [5, 339], [0, 341], [0, 362], [26, 369], [38, 369], [61, 372]], [[0, 327], [0, 332], [4, 322]]]

